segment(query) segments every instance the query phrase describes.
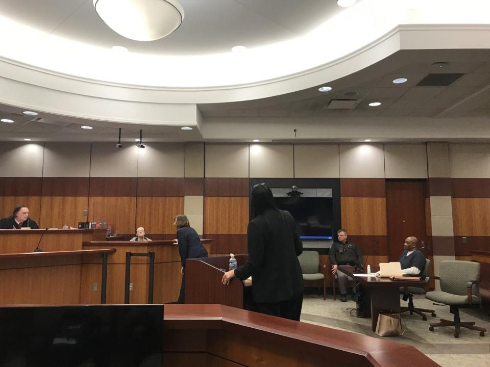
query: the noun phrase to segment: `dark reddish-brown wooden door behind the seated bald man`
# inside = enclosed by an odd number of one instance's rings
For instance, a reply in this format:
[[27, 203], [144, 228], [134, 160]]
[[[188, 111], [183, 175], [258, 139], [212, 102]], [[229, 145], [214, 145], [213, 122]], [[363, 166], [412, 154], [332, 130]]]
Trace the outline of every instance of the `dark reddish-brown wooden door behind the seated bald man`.
[[389, 261], [398, 261], [407, 237], [418, 238], [418, 247], [427, 243], [425, 186], [426, 180], [386, 180]]

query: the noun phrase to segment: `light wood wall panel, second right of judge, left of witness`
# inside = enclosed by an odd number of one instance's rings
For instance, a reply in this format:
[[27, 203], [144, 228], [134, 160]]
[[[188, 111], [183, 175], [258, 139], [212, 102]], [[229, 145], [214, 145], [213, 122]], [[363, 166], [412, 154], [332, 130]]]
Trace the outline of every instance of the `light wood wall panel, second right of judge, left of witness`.
[[88, 221], [100, 222], [101, 219], [118, 233], [134, 233], [136, 197], [90, 197]]

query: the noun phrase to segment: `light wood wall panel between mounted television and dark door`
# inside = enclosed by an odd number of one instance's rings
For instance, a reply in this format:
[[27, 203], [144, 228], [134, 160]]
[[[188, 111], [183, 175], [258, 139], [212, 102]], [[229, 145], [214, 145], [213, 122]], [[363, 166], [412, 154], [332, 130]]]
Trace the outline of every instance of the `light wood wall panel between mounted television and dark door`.
[[341, 223], [352, 235], [386, 235], [385, 198], [340, 198]]

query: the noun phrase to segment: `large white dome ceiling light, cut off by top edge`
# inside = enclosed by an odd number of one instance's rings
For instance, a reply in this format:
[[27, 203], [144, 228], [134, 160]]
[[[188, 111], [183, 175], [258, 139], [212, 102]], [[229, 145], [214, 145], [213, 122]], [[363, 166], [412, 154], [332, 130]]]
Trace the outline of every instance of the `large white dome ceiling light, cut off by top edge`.
[[155, 41], [182, 24], [177, 0], [92, 0], [95, 12], [114, 32], [135, 41]]

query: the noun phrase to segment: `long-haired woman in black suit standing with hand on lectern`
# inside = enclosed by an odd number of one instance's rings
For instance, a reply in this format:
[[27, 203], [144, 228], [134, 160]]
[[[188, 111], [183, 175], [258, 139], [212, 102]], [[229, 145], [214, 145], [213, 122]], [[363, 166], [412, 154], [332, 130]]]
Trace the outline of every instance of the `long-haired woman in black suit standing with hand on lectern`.
[[303, 305], [303, 275], [298, 256], [303, 244], [296, 233], [295, 220], [274, 204], [272, 191], [264, 183], [252, 190], [254, 219], [247, 228], [249, 260], [226, 272], [223, 284], [233, 277], [252, 275], [252, 294], [258, 311], [291, 320], [300, 320]]

